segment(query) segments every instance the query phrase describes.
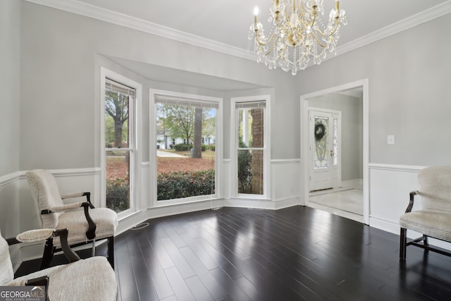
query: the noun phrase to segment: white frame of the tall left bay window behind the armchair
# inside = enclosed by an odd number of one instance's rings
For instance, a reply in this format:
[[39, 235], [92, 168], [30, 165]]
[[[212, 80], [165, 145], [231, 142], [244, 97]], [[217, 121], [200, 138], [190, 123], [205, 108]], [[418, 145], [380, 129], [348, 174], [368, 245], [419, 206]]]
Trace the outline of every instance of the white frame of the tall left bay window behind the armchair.
[[[128, 113], [128, 130], [129, 141], [128, 147], [123, 148], [106, 148], [105, 147], [105, 90], [106, 78], [118, 82], [122, 85], [135, 89], [135, 97], [132, 104], [129, 103]], [[137, 137], [140, 132], [140, 116], [141, 111], [142, 85], [130, 78], [125, 77], [112, 70], [100, 68], [100, 207], [106, 208], [106, 152], [111, 150], [130, 151], [130, 208], [118, 213], [118, 219], [125, 219], [127, 216], [135, 214], [139, 209], [140, 196], [140, 168], [142, 161], [139, 152], [139, 140]]]

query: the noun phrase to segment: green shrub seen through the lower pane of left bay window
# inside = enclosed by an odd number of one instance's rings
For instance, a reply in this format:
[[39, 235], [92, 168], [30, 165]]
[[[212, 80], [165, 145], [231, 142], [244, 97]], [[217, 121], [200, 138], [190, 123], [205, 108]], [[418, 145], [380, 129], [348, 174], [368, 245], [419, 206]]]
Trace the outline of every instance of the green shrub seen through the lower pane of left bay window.
[[116, 212], [128, 209], [128, 188], [127, 179], [106, 180], [106, 207]]

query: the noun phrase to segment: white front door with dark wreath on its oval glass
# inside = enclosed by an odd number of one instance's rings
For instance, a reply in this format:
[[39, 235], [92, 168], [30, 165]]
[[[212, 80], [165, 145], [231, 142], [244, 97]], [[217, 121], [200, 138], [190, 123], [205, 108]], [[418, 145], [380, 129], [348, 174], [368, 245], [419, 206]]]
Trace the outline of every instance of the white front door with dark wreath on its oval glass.
[[340, 185], [339, 127], [340, 112], [309, 109], [310, 191]]

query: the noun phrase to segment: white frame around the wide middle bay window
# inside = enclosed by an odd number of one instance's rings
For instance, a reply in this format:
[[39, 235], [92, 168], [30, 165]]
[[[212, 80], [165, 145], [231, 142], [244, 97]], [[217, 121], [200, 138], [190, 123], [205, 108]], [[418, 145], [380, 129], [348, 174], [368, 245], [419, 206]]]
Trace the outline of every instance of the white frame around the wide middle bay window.
[[[184, 199], [166, 199], [166, 200], [160, 200], [157, 201], [157, 185], [158, 185], [158, 179], [157, 179], [157, 162], [156, 162], [156, 147], [154, 147], [156, 143], [156, 121], [157, 121], [157, 110], [156, 110], [156, 95], [165, 96], [165, 97], [176, 97], [180, 99], [193, 99], [198, 102], [211, 102], [218, 106], [216, 109], [216, 127], [215, 127], [215, 136], [216, 136], [216, 143], [215, 143], [215, 193], [214, 195], [202, 195], [202, 196], [194, 196], [194, 197], [186, 197]], [[151, 168], [150, 170], [150, 179], [153, 182], [152, 189], [150, 191], [150, 195], [153, 197], [154, 202], [151, 205], [152, 207], [165, 207], [165, 206], [172, 206], [177, 204], [188, 204], [193, 202], [205, 202], [205, 201], [212, 201], [214, 199], [221, 198], [222, 195], [222, 189], [221, 189], [221, 178], [222, 178], [222, 142], [223, 137], [221, 135], [222, 128], [223, 128], [223, 118], [222, 118], [222, 112], [223, 112], [223, 99], [221, 97], [209, 97], [204, 95], [198, 95], [198, 94], [187, 94], [187, 93], [181, 93], [181, 92], [173, 92], [168, 90], [156, 90], [156, 89], [149, 89], [149, 158], [151, 161], [151, 166], [154, 166], [154, 168]]]

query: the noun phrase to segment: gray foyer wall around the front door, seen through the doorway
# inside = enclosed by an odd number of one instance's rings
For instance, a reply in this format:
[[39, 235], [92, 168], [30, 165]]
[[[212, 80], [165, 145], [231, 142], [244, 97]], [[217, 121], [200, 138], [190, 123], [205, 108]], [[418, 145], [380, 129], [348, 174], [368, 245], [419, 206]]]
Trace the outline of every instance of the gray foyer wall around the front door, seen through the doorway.
[[341, 111], [341, 180], [363, 178], [362, 98], [328, 94], [309, 99], [309, 106]]

